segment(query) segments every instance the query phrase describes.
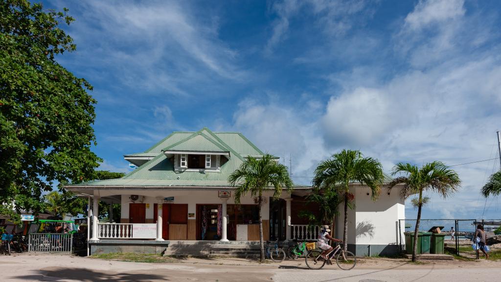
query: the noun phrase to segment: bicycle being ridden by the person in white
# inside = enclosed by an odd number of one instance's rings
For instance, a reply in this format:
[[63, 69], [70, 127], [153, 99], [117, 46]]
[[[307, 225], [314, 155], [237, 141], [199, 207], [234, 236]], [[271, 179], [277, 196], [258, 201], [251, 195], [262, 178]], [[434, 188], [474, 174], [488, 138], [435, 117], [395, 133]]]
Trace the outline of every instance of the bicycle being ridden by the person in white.
[[345, 251], [341, 248], [341, 244], [338, 244], [335, 248], [333, 248], [329, 253], [326, 254], [327, 259], [321, 257], [322, 251], [318, 249], [314, 249], [308, 253], [306, 256], [306, 265], [310, 269], [320, 269], [324, 267], [324, 265], [331, 264], [331, 259], [336, 256], [336, 264], [339, 268], [343, 270], [350, 270], [357, 264], [357, 258], [350, 251]]

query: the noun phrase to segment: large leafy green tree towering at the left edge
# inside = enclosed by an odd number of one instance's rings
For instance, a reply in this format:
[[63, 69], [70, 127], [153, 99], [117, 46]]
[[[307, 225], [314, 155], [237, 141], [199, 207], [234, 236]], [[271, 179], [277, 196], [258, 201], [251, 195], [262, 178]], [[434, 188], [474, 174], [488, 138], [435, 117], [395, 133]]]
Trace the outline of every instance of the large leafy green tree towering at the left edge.
[[0, 0], [0, 213], [14, 220], [40, 212], [55, 183], [92, 179], [101, 161], [92, 86], [55, 59], [76, 49], [60, 28], [74, 21], [67, 12]]

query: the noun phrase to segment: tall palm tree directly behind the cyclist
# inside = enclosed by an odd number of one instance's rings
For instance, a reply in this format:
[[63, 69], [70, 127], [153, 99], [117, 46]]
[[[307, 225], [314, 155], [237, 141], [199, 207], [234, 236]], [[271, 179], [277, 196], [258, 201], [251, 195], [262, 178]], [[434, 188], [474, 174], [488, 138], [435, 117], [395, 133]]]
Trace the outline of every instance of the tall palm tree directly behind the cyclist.
[[373, 158], [364, 158], [358, 150], [343, 150], [321, 162], [315, 169], [313, 187], [335, 191], [344, 200], [344, 250], [348, 247], [348, 207], [354, 198], [350, 193], [350, 183], [365, 183], [371, 189], [371, 197], [375, 201], [381, 192], [383, 180], [381, 163]]

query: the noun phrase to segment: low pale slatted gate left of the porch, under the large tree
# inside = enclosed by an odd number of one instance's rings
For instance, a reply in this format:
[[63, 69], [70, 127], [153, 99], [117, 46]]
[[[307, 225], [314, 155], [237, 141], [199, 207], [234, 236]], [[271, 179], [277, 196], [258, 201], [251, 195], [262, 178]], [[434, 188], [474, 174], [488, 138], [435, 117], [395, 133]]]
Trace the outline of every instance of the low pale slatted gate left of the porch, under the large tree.
[[68, 253], [73, 251], [73, 234], [31, 233], [28, 235], [29, 252]]

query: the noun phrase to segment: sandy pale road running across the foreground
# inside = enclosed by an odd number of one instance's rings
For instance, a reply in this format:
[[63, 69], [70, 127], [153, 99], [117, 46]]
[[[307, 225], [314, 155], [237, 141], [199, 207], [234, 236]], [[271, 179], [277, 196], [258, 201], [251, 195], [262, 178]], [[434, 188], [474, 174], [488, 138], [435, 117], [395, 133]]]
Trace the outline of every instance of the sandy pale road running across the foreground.
[[142, 263], [68, 255], [0, 256], [2, 281], [499, 281], [501, 261], [426, 261], [361, 258], [352, 270], [310, 270], [304, 260], [263, 263], [239, 258]]

